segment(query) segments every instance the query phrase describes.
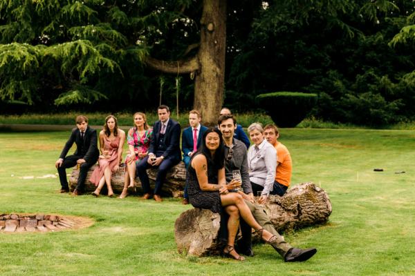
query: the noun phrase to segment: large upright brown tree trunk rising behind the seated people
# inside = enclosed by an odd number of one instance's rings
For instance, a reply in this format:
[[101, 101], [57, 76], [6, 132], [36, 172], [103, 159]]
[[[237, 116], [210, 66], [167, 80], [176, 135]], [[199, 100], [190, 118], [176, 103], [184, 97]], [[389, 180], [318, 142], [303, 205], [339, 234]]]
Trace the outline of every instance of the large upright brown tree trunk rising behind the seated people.
[[215, 126], [225, 89], [226, 1], [204, 0], [201, 18], [201, 70], [194, 81], [194, 108], [201, 111], [203, 124]]

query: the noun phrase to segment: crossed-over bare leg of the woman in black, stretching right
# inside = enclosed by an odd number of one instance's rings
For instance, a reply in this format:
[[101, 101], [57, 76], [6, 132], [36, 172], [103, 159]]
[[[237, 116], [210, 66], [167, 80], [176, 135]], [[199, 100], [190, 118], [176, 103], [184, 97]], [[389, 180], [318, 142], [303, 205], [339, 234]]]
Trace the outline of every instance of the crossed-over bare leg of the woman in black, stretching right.
[[[241, 195], [239, 195], [238, 193], [228, 193], [226, 195], [221, 195], [221, 201], [222, 201], [222, 206], [230, 206], [230, 205], [237, 206], [239, 210], [239, 214], [249, 226], [251, 226], [255, 230], [262, 229], [262, 227], [255, 220], [254, 216], [252, 215], [250, 209], [246, 205]], [[273, 234], [271, 234], [267, 230], [263, 230], [262, 239], [264, 239], [264, 241], [267, 242], [272, 237], [273, 237]]]

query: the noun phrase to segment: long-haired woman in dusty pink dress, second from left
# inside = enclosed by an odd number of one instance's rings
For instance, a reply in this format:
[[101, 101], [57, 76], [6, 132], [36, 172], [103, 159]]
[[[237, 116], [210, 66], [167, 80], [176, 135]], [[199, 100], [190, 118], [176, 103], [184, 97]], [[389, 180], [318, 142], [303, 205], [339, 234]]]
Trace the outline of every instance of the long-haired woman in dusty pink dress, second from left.
[[122, 160], [122, 146], [124, 145], [125, 132], [118, 128], [117, 118], [113, 115], [105, 118], [104, 128], [100, 131], [101, 155], [98, 165], [89, 179], [97, 188], [92, 195], [98, 197], [104, 184], [107, 184], [108, 196], [113, 197], [111, 187], [111, 175], [117, 172]]

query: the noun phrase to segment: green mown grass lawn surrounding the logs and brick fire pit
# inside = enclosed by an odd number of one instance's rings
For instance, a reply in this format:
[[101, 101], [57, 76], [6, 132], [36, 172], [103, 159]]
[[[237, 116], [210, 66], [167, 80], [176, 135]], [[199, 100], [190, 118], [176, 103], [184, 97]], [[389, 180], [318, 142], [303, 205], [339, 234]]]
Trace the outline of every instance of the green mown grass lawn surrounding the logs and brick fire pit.
[[415, 275], [415, 131], [281, 132], [293, 157], [292, 183], [315, 182], [333, 204], [328, 224], [285, 234], [293, 246], [317, 247], [308, 262], [284, 263], [264, 244], [245, 262], [179, 255], [174, 221], [190, 206], [56, 193], [58, 179], [37, 177], [55, 174], [69, 132], [2, 132], [0, 213], [79, 215], [95, 224], [1, 233], [0, 275]]

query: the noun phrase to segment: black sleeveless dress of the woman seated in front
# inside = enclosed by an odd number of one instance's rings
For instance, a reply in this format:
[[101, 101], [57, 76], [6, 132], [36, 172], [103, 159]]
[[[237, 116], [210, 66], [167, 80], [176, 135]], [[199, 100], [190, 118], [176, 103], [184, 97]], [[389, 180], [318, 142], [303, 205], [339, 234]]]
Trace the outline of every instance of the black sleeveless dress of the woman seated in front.
[[[201, 154], [201, 153], [199, 153]], [[208, 158], [207, 158], [208, 159]], [[208, 159], [209, 160], [209, 159]], [[218, 170], [211, 161], [208, 161], [208, 182], [218, 184]], [[187, 193], [193, 207], [208, 209], [214, 213], [222, 213], [221, 196], [219, 190], [203, 191], [197, 181], [196, 170], [189, 165], [186, 173]]]

